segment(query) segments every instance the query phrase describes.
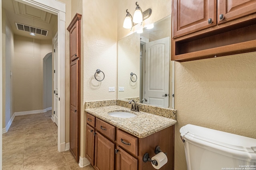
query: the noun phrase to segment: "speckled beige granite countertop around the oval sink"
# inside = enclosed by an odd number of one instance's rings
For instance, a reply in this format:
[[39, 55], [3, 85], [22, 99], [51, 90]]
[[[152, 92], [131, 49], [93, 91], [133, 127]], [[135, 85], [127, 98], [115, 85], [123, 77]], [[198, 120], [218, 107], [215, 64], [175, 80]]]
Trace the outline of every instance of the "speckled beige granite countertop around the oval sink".
[[[153, 133], [156, 133], [162, 129], [170, 127], [176, 124], [176, 120], [145, 113], [131, 111], [130, 109], [122, 106], [105, 106], [85, 109], [87, 113], [90, 113], [138, 138], [144, 138]], [[126, 111], [137, 115], [131, 118], [118, 118], [108, 115], [113, 111]]]

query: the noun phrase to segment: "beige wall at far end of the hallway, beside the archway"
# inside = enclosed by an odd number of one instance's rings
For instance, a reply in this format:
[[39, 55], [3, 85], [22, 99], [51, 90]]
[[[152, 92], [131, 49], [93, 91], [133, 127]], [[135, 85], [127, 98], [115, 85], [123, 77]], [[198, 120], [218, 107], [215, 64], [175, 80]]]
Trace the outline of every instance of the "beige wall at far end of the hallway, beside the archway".
[[43, 58], [52, 41], [14, 36], [14, 112], [43, 108]]

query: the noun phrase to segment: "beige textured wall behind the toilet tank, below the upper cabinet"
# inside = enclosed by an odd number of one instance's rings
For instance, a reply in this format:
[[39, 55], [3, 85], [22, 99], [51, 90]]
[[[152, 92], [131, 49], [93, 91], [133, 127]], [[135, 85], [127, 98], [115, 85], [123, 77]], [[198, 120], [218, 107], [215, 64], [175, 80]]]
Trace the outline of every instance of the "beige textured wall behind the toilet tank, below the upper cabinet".
[[256, 139], [256, 53], [175, 63], [175, 170], [186, 169], [179, 129], [194, 124]]

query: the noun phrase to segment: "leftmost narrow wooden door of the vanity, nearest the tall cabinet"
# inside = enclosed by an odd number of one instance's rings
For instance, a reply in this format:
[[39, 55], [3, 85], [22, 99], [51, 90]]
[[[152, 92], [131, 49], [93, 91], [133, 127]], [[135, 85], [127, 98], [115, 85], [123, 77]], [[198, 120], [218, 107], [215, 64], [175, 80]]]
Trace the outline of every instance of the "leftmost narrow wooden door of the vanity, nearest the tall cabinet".
[[86, 158], [94, 165], [94, 128], [86, 125], [85, 153]]

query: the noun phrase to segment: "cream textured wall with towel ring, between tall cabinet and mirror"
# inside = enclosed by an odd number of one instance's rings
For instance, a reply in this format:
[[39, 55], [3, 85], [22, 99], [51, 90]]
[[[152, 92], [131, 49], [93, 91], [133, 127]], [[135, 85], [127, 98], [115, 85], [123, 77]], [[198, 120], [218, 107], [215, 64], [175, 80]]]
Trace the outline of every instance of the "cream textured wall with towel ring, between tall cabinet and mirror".
[[[113, 8], [116, 4], [117, 0], [82, 1], [80, 133], [82, 158], [85, 157], [84, 102], [116, 99], [116, 92], [108, 92], [108, 87], [116, 87], [117, 9]], [[102, 82], [94, 78], [96, 69], [102, 70], [105, 74]]]

